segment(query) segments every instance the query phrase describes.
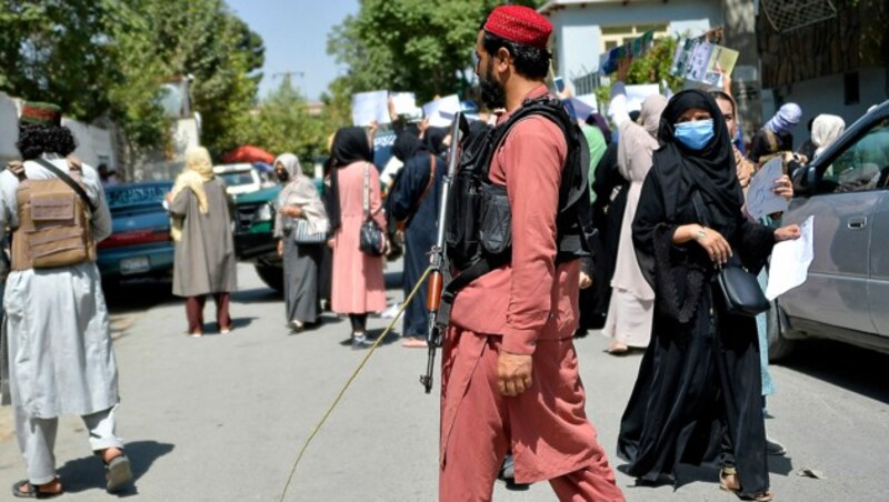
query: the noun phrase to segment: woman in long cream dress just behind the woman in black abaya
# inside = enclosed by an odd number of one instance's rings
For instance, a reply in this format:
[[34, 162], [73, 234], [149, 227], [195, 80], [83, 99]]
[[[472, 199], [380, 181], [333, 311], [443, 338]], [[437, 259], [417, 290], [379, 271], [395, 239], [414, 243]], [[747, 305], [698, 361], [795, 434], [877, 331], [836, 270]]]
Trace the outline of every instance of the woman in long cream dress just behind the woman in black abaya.
[[638, 124], [630, 120], [627, 112], [626, 96], [621, 92], [623, 84], [618, 82], [615, 89], [610, 112], [620, 131], [618, 168], [621, 175], [630, 182], [630, 187], [620, 227], [615, 275], [611, 278], [611, 301], [602, 334], [611, 339], [608, 352], [622, 354], [630, 348], [645, 349], [651, 338], [655, 291], [646, 282], [636, 260], [630, 225], [639, 204], [642, 181], [651, 169], [651, 154], [658, 149], [656, 134], [667, 99], [660, 94], [647, 98], [639, 116], [641, 124]]

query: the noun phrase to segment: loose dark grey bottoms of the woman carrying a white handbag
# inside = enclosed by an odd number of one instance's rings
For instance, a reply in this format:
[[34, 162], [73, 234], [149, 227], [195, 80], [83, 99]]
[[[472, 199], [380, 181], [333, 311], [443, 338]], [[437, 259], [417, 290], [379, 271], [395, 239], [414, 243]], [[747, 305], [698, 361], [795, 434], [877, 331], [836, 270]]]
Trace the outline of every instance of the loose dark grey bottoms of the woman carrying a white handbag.
[[324, 244], [298, 244], [284, 235], [284, 308], [287, 322], [318, 320], [318, 265]]

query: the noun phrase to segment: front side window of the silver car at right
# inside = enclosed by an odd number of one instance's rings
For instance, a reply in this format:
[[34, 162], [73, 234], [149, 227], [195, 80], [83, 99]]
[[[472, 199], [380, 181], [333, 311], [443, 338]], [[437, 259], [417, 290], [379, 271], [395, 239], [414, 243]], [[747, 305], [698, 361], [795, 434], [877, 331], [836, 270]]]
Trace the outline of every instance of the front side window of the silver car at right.
[[851, 143], [825, 170], [823, 191], [857, 192], [887, 189], [889, 185], [889, 119]]

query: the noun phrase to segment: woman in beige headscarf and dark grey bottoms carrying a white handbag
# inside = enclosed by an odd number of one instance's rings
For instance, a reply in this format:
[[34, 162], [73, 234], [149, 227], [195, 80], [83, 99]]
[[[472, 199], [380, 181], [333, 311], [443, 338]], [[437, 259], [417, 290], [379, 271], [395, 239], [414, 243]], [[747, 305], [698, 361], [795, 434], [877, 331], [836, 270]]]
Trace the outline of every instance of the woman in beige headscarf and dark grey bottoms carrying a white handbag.
[[[278, 195], [279, 215], [274, 219], [278, 255], [283, 259], [284, 309], [291, 331], [299, 332], [306, 324], [318, 321], [318, 267], [327, 240], [306, 237], [326, 237], [329, 222], [318, 190], [302, 173], [297, 155], [279, 155], [274, 172], [284, 183]], [[308, 232], [299, 232], [299, 225], [304, 225]], [[304, 240], [299, 241], [301, 238]]]

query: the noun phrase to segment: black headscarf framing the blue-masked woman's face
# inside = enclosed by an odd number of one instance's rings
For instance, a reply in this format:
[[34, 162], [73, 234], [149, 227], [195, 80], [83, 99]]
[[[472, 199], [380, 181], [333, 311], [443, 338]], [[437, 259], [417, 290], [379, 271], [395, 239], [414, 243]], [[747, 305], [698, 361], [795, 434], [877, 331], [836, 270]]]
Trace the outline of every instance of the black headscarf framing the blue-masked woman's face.
[[[687, 110], [707, 110], [713, 119], [713, 138], [703, 149], [687, 148], [675, 138], [676, 122]], [[710, 94], [690, 89], [675, 94], [663, 109], [658, 139], [662, 147], [655, 152], [657, 164], [676, 192], [676, 201], [691, 201], [700, 190], [709, 202], [712, 224], [736, 220], [743, 205], [743, 193], [735, 169], [735, 154], [722, 112]], [[677, 179], [678, 178], [678, 179]]]

